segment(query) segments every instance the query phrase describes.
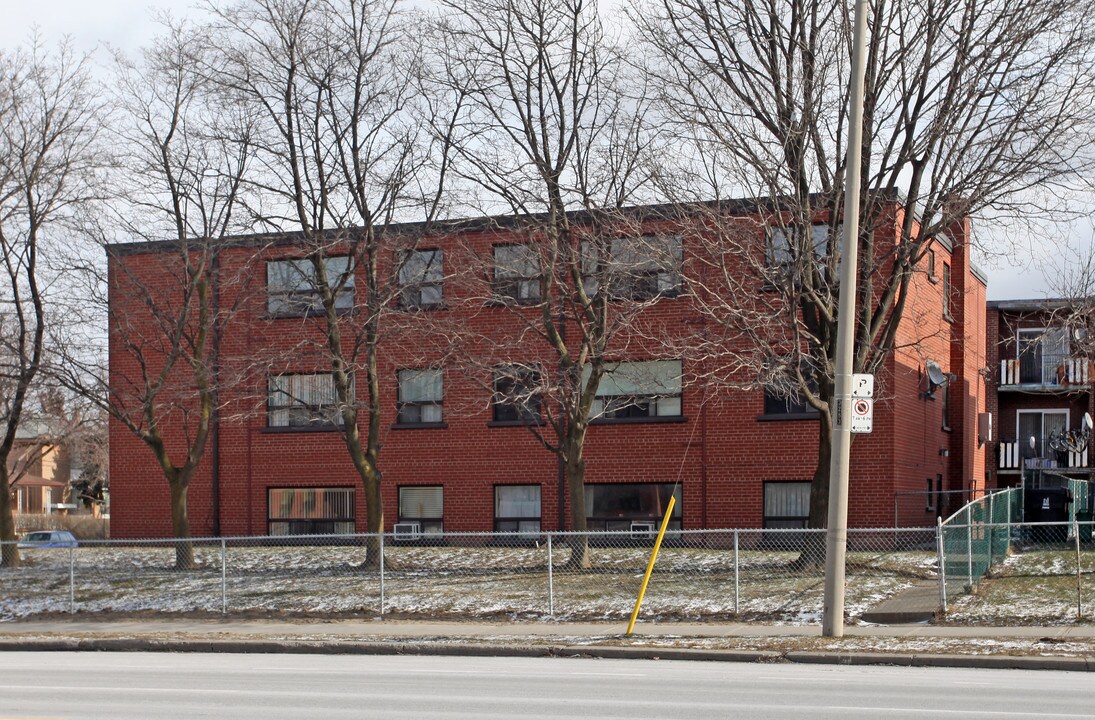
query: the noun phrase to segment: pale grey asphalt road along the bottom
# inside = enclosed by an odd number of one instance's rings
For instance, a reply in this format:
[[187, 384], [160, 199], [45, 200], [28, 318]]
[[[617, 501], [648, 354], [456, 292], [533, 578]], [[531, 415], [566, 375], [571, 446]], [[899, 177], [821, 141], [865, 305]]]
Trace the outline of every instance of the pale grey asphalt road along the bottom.
[[468, 657], [0, 653], [0, 720], [1091, 719], [1046, 671]]

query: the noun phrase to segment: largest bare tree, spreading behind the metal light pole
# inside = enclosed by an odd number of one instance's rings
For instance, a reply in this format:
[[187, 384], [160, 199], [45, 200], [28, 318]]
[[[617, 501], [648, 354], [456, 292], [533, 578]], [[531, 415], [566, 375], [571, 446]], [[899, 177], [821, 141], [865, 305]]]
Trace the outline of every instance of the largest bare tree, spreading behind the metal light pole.
[[[751, 223], [716, 213], [702, 221], [705, 255], [725, 262], [696, 279], [698, 297], [723, 339], [734, 340], [716, 342], [711, 357], [735, 382], [782, 379], [784, 394], [818, 411], [809, 524], [823, 526], [846, 5], [639, 0], [632, 14], [684, 148], [687, 162], [667, 169], [667, 186], [690, 188], [688, 200], [772, 198]], [[970, 216], [1045, 212], [1039, 190], [1090, 167], [1092, 30], [1077, 0], [872, 3], [855, 372], [878, 371], [895, 350], [899, 324], [910, 321], [910, 282], [925, 271], [933, 241], [950, 236], [960, 247]]]

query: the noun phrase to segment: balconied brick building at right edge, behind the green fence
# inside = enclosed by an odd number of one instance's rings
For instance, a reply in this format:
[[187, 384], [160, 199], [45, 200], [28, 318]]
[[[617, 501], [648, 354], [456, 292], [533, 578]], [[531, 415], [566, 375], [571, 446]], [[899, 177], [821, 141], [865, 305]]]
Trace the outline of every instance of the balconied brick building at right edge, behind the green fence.
[[[1063, 300], [988, 303], [989, 413], [996, 442], [989, 488], [1021, 485], [1025, 468], [1091, 479], [1092, 451], [1083, 427], [1095, 413], [1086, 322]], [[1087, 429], [1090, 430], [1090, 429]], [[1069, 442], [1069, 434], [1079, 441]]]

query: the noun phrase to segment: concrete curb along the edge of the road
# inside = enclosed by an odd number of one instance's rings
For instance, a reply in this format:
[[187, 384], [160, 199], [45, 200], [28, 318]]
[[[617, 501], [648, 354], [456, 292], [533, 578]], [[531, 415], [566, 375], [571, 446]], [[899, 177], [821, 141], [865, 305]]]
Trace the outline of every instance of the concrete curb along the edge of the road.
[[73, 638], [59, 640], [0, 640], [0, 652], [208, 652], [324, 655], [436, 655], [477, 658], [548, 657], [1095, 672], [1095, 658], [909, 654], [885, 652], [776, 652], [773, 650], [692, 650], [687, 648], [626, 648], [613, 646], [530, 647], [462, 642], [308, 642], [276, 640], [152, 640], [142, 638]]

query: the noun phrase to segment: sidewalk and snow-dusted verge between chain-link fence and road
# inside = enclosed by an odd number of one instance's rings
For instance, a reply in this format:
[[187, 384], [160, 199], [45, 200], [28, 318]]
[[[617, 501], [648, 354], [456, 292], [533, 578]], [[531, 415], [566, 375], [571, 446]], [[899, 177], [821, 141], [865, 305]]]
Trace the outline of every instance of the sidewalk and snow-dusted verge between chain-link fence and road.
[[277, 619], [84, 619], [0, 624], [0, 651], [114, 650], [447, 655], [584, 655], [1095, 671], [1095, 626]]

